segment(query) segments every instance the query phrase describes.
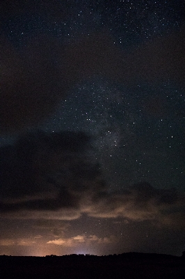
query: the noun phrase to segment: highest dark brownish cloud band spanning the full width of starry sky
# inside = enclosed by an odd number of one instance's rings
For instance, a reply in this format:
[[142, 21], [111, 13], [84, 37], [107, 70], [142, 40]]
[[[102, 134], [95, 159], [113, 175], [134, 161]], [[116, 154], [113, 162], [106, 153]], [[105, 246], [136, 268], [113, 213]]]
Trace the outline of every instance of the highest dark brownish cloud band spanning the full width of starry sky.
[[39, 123], [93, 75], [126, 84], [171, 79], [184, 85], [184, 45], [184, 29], [130, 52], [115, 47], [106, 30], [65, 44], [37, 36], [21, 51], [1, 38], [1, 133]]

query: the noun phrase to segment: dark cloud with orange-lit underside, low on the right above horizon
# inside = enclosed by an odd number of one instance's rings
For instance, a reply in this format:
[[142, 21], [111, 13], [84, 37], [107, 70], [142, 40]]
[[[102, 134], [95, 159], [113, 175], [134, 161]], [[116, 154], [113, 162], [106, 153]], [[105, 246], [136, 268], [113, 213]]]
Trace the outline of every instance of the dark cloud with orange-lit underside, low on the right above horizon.
[[98, 197], [88, 208], [93, 217], [122, 217], [134, 221], [150, 220], [154, 225], [182, 228], [185, 225], [185, 196], [175, 189], [154, 188], [150, 183], [138, 183], [122, 193]]

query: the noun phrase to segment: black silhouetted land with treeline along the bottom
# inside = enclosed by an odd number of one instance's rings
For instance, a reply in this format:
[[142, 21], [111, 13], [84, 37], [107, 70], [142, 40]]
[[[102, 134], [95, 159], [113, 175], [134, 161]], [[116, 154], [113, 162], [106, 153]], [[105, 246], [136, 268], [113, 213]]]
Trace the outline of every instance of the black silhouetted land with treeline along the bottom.
[[93, 255], [0, 256], [0, 278], [184, 279], [185, 259], [170, 255], [132, 252], [104, 257]]

